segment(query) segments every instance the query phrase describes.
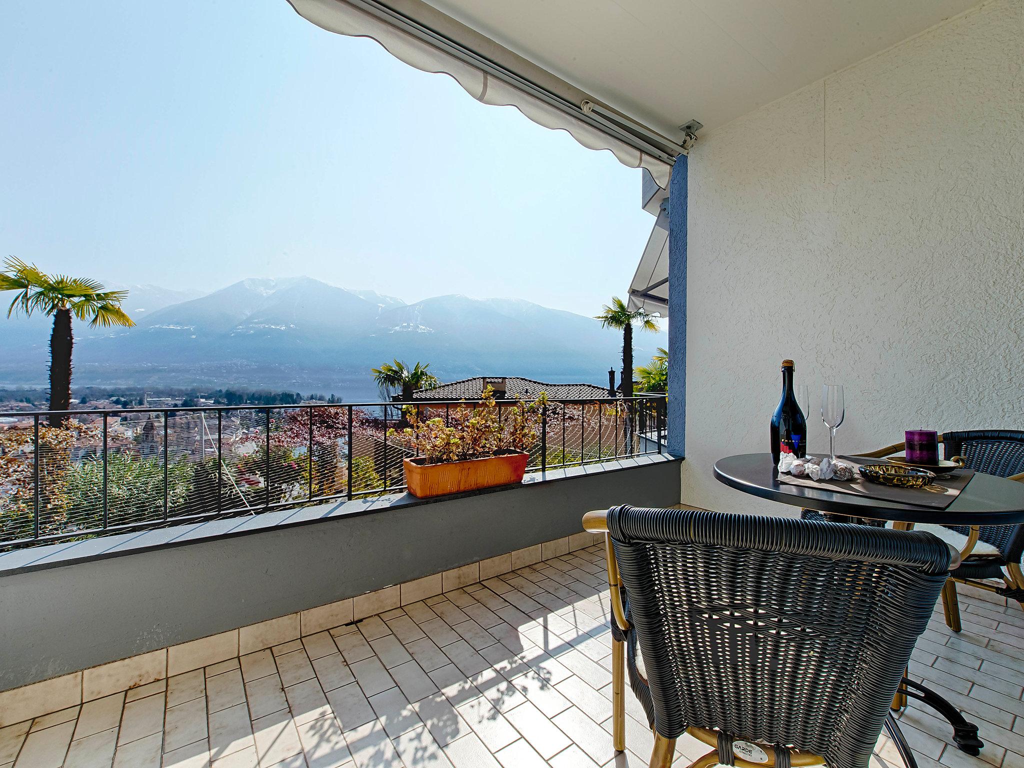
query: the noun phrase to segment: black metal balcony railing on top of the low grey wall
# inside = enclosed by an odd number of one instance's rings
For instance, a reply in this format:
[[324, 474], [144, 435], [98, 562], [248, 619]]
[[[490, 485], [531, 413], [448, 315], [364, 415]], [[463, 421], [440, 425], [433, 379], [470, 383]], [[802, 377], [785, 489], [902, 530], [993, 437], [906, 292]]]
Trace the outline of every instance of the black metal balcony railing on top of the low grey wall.
[[[447, 422], [477, 404], [413, 408]], [[496, 407], [500, 424], [521, 408]], [[388, 435], [392, 402], [54, 415], [0, 413], [0, 550], [398, 493], [416, 456]], [[666, 395], [550, 400], [539, 432], [527, 471], [660, 453]]]

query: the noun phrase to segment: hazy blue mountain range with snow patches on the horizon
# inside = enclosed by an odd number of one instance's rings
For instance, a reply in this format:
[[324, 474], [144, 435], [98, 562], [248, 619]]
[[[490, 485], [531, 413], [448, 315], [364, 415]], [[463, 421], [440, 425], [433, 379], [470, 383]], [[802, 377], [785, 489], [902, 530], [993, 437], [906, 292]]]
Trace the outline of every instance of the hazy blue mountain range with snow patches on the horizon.
[[[78, 386], [200, 386], [333, 392], [376, 399], [370, 369], [431, 364], [442, 381], [523, 376], [607, 382], [622, 337], [592, 317], [519, 299], [436, 296], [414, 304], [311, 278], [248, 279], [207, 295], [129, 287], [132, 329], [75, 328]], [[0, 325], [0, 385], [46, 379], [49, 322]], [[638, 334], [645, 360], [662, 334]]]

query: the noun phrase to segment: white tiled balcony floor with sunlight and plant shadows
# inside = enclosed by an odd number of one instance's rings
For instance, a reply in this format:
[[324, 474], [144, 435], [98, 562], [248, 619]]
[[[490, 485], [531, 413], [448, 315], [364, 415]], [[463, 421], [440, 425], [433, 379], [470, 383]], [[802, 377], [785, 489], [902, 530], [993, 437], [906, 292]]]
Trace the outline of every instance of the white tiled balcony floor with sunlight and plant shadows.
[[[964, 632], [937, 613], [911, 673], [981, 726], [982, 758], [911, 703], [922, 768], [1024, 768], [1024, 613], [962, 589]], [[611, 743], [610, 636], [599, 547], [355, 625], [0, 729], [0, 768], [594, 768], [645, 766], [627, 695]], [[707, 751], [679, 743], [677, 763]], [[900, 765], [883, 737], [878, 762]]]

